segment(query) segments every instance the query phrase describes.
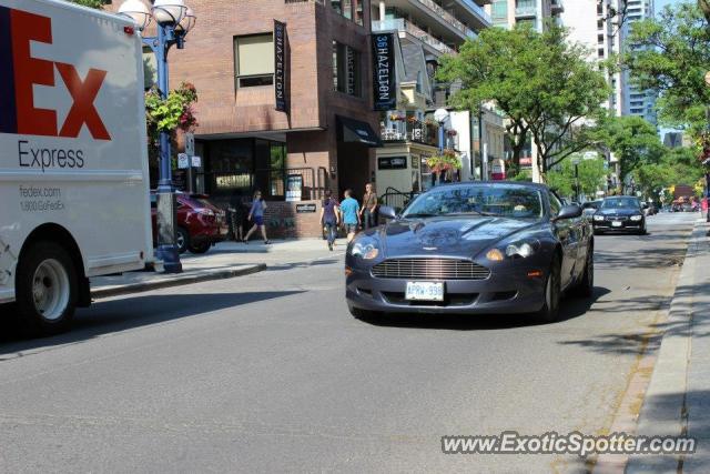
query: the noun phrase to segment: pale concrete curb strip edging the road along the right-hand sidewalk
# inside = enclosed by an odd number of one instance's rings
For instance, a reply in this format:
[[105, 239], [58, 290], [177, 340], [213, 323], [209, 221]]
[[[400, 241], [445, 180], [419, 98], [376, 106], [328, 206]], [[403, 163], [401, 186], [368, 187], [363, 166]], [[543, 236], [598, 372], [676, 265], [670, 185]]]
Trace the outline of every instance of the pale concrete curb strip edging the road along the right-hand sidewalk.
[[[696, 260], [704, 228], [696, 222], [676, 293], [668, 314], [669, 329], [663, 333], [658, 359], [638, 418], [637, 436], [684, 436], [688, 428], [686, 394], [692, 341], [692, 288]], [[635, 455], [627, 463], [627, 473], [681, 472], [680, 455]]]

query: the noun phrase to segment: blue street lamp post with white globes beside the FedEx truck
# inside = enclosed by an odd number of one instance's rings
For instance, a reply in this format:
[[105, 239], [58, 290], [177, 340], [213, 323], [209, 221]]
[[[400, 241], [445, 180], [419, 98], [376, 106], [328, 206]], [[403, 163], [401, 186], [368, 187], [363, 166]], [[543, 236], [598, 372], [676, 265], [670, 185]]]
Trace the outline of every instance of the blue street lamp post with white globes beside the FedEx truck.
[[[158, 89], [168, 98], [168, 52], [173, 46], [184, 48], [185, 36], [194, 27], [196, 17], [183, 0], [152, 0], [152, 7], [142, 0], [125, 0], [119, 13], [135, 21], [143, 32], [155, 20], [158, 36], [144, 37], [143, 44], [151, 48], [158, 64]], [[175, 190], [172, 180], [170, 132], [160, 131], [160, 177], [158, 181], [158, 249], [155, 256], [163, 261], [166, 273], [182, 272], [180, 253], [175, 245]]]

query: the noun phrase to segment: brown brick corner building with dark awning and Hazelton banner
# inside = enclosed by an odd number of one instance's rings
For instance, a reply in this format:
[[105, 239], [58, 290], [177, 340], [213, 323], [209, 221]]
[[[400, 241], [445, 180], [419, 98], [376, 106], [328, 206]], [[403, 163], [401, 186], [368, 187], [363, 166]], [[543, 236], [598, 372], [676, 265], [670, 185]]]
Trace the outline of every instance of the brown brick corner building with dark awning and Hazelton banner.
[[[197, 24], [170, 54], [170, 81], [200, 97], [195, 189], [224, 204], [260, 189], [271, 234], [320, 235], [323, 191], [361, 192], [373, 178], [369, 0], [189, 3]], [[276, 110], [275, 21], [286, 30], [286, 111]]]

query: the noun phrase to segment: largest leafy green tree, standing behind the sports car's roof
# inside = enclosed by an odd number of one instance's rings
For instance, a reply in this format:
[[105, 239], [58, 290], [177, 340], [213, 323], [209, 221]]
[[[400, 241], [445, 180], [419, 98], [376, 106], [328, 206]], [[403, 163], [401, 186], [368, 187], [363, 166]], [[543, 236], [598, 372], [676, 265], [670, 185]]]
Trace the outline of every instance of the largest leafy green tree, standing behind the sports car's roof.
[[544, 33], [529, 27], [487, 28], [457, 56], [442, 58], [437, 78], [460, 84], [450, 98], [458, 109], [494, 102], [508, 119], [514, 165], [531, 139], [546, 172], [589, 147], [585, 119], [599, 113], [608, 98], [605, 77], [588, 56], [556, 26]]

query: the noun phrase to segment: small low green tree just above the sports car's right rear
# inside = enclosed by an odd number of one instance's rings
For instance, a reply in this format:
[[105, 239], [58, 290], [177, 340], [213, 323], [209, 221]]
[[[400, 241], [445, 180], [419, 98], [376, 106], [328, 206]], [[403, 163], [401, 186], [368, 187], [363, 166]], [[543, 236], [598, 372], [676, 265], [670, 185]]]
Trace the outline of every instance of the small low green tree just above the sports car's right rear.
[[[562, 160], [555, 169], [547, 174], [547, 182], [558, 194], [575, 196], [577, 179], [575, 178], [574, 157]], [[591, 160], [580, 160], [579, 165], [579, 192], [588, 196], [594, 196], [606, 180], [607, 170], [604, 160], [600, 158]]]

